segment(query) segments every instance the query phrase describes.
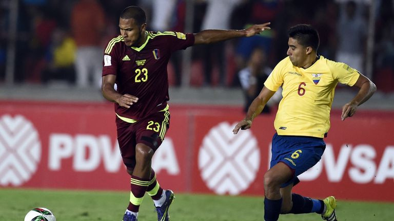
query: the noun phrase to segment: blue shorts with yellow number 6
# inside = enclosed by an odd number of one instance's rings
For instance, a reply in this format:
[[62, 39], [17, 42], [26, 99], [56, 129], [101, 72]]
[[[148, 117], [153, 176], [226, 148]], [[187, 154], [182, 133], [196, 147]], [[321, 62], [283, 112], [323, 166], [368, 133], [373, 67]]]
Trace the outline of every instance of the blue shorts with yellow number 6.
[[294, 183], [298, 175], [317, 164], [325, 148], [323, 138], [281, 136], [275, 133], [272, 138], [270, 167], [283, 162], [293, 171], [293, 177], [281, 187]]

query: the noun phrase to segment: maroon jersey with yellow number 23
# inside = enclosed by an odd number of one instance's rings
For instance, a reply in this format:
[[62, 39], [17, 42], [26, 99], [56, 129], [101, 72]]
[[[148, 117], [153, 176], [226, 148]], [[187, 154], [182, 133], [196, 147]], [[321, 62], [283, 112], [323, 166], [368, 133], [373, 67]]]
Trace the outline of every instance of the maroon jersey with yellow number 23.
[[169, 100], [167, 64], [171, 53], [194, 44], [193, 34], [147, 32], [140, 47], [128, 47], [122, 36], [109, 41], [104, 51], [103, 76], [116, 75], [117, 92], [139, 100], [122, 107], [115, 103], [117, 115], [140, 120], [164, 109]]

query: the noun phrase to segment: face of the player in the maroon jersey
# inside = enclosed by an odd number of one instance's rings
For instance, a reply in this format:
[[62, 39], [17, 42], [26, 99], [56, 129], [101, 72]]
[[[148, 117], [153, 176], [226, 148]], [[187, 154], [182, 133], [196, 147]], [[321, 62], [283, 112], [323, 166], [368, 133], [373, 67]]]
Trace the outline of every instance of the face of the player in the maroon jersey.
[[133, 18], [119, 19], [121, 35], [125, 40], [126, 46], [140, 47], [142, 44], [142, 33], [145, 32], [146, 24], [138, 26]]

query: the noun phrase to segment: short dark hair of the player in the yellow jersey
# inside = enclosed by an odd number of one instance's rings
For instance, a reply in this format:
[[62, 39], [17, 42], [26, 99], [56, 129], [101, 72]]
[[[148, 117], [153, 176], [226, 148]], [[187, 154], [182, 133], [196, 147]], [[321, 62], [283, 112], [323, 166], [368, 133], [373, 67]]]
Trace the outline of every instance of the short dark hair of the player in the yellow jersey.
[[291, 27], [288, 31], [291, 38], [296, 39], [300, 45], [311, 47], [315, 51], [319, 48], [319, 33], [311, 25], [299, 24]]

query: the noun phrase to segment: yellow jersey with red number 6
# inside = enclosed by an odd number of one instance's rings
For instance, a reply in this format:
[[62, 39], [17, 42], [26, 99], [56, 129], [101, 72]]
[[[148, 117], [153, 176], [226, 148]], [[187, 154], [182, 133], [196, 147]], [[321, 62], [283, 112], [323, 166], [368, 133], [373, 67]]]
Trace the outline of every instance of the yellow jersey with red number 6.
[[280, 61], [265, 81], [271, 91], [282, 86], [274, 127], [278, 135], [324, 138], [338, 82], [353, 86], [360, 73], [342, 62], [319, 56], [309, 68], [295, 67], [289, 57]]

